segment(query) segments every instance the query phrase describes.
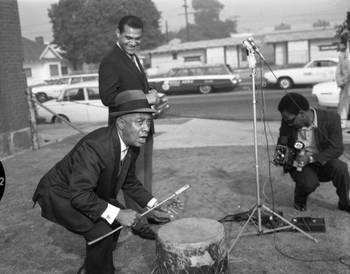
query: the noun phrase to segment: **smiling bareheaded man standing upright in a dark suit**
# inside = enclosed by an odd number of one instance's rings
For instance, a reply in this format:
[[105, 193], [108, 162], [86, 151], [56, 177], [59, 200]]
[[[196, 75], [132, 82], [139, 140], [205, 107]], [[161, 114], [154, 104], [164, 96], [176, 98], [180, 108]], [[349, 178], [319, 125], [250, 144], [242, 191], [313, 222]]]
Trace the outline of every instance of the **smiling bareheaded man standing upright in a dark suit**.
[[[125, 90], [143, 90], [148, 104], [156, 105], [160, 101], [157, 90], [150, 89], [145, 71], [135, 54], [142, 39], [142, 21], [134, 15], [127, 15], [119, 22], [116, 34], [118, 41], [99, 65], [99, 94], [102, 103], [109, 107], [109, 113], [115, 111], [116, 96]], [[113, 117], [109, 117], [109, 125], [113, 124]], [[154, 125], [146, 139], [145, 146], [141, 147], [140, 156], [137, 159], [136, 174], [145, 189], [152, 193], [152, 157]], [[127, 193], [124, 193], [127, 208], [144, 212]], [[132, 233], [141, 238], [155, 240], [155, 233], [148, 224], [167, 224], [169, 218], [156, 217], [148, 214], [132, 227]]]

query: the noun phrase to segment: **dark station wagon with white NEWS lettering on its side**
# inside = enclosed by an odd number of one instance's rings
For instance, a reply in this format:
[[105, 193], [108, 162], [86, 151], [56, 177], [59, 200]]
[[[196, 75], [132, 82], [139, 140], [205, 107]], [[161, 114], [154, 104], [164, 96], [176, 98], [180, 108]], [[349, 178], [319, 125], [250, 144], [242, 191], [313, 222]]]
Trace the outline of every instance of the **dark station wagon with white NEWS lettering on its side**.
[[148, 82], [162, 93], [198, 90], [202, 94], [217, 88], [235, 88], [241, 82], [228, 64], [202, 64], [192, 67], [174, 67], [164, 77], [149, 78]]

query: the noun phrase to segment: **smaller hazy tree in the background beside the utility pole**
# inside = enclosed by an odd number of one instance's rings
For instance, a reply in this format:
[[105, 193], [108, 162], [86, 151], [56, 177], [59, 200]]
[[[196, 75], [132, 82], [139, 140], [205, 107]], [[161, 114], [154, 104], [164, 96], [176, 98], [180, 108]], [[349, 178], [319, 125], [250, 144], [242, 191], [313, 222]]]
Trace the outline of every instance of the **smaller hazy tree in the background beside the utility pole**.
[[[220, 39], [237, 32], [235, 21], [220, 20], [219, 15], [224, 6], [219, 1], [193, 0], [192, 8], [195, 11], [195, 24], [188, 25], [190, 41]], [[186, 41], [186, 28], [181, 28], [176, 37]]]

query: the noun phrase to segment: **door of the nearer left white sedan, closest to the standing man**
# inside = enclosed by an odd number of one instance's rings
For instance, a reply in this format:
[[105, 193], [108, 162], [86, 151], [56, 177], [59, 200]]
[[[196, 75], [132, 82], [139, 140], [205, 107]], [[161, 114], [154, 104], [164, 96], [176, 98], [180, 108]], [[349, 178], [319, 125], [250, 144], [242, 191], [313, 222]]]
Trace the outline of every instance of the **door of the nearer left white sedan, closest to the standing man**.
[[108, 122], [109, 109], [102, 104], [99, 97], [99, 86], [94, 85], [86, 88], [87, 92], [87, 116], [90, 123]]

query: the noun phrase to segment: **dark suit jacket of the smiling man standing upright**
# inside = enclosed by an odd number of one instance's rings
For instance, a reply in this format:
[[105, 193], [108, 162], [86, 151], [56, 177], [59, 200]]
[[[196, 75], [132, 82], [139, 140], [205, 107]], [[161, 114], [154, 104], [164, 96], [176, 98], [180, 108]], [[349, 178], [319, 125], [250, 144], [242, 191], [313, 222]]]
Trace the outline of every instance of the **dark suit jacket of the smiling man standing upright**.
[[[130, 57], [116, 44], [99, 64], [99, 95], [109, 113], [116, 111], [116, 96], [125, 90], [150, 90], [147, 77], [139, 57], [135, 55], [139, 69]], [[111, 118], [109, 118], [109, 125]], [[151, 134], [154, 127], [151, 126]]]

